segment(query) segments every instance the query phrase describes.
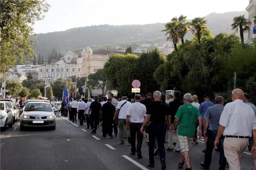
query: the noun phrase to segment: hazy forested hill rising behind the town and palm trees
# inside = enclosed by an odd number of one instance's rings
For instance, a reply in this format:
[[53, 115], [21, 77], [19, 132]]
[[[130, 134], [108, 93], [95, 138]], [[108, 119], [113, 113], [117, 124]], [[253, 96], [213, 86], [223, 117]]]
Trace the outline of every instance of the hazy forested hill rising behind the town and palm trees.
[[[230, 25], [233, 18], [243, 14], [245, 16], [248, 15], [246, 11], [211, 13], [205, 16], [205, 19], [208, 20], [207, 27], [212, 31], [213, 35], [220, 32], [231, 33], [233, 31]], [[170, 16], [170, 20], [172, 17]], [[157, 43], [166, 40], [164, 33], [160, 32], [163, 29], [164, 23], [78, 27], [66, 31], [37, 34], [38, 45], [33, 48], [36, 50], [37, 55], [41, 53], [41, 55], [47, 56], [52, 48], [55, 48], [56, 51], [67, 51], [84, 48], [88, 45], [118, 44], [128, 41], [132, 41], [131, 43]], [[190, 39], [191, 37], [191, 33], [188, 33], [185, 39]], [[246, 39], [247, 36], [245, 35]]]

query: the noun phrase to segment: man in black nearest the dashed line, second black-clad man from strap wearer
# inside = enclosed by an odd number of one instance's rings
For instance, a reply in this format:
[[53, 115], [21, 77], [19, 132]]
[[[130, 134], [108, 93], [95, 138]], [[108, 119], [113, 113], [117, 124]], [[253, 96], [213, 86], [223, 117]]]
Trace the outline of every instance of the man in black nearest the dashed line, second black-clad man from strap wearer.
[[99, 119], [100, 119], [100, 109], [101, 109], [101, 104], [100, 102], [98, 102], [99, 97], [98, 96], [94, 96], [94, 100], [89, 108], [88, 113], [90, 113], [91, 111], [91, 115], [88, 114], [88, 117], [90, 117], [90, 124], [91, 124], [91, 128], [92, 131], [91, 133], [95, 134], [96, 130], [97, 130], [97, 126], [99, 124]]

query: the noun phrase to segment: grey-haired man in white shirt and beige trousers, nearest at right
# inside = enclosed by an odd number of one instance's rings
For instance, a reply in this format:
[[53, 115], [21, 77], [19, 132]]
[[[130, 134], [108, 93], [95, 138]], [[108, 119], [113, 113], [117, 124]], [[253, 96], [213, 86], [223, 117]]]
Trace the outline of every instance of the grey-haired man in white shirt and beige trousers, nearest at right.
[[[232, 102], [228, 103], [221, 113], [220, 126], [214, 141], [216, 148], [223, 135], [224, 154], [229, 164], [229, 170], [238, 170], [240, 158], [249, 144], [249, 137], [256, 136], [256, 117], [252, 107], [243, 102], [244, 92], [235, 89], [232, 92]], [[254, 139], [254, 144], [256, 140]], [[256, 147], [252, 146], [252, 155], [256, 155]]]

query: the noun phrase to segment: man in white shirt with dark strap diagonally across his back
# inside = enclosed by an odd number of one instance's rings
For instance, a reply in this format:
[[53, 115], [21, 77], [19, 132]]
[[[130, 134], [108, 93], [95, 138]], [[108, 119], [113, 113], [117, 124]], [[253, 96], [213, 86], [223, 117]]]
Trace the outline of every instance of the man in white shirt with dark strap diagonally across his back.
[[[126, 96], [122, 97], [122, 101], [117, 104], [116, 113], [114, 115], [113, 120], [116, 120], [116, 116], [118, 115], [118, 128], [119, 128], [119, 138], [120, 143], [124, 144], [124, 136], [127, 134], [128, 143], [131, 143], [130, 131], [126, 130], [126, 111], [131, 102], [128, 101]], [[125, 133], [126, 131], [126, 133]]]

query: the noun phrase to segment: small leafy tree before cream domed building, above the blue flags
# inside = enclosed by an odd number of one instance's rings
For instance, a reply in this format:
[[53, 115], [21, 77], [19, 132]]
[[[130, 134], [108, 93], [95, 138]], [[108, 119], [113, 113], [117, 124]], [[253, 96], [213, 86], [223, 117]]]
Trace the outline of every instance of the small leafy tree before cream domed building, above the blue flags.
[[88, 76], [88, 80], [89, 80], [87, 82], [88, 86], [91, 86], [92, 89], [95, 89], [95, 88], [101, 89], [102, 95], [103, 96], [106, 95], [108, 88], [106, 88], [106, 91], [104, 91], [107, 83], [107, 77], [104, 72], [104, 69], [99, 69], [96, 71], [96, 73], [90, 74]]

